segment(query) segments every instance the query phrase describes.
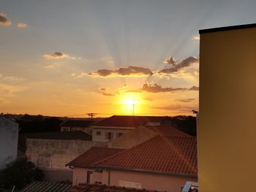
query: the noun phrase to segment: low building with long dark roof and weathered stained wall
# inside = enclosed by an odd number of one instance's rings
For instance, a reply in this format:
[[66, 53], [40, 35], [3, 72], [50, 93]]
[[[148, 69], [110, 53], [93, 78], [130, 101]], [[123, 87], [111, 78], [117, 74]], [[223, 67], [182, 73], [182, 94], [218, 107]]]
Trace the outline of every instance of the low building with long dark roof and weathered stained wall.
[[93, 146], [105, 147], [106, 142], [93, 142], [83, 131], [42, 132], [22, 134], [20, 145], [26, 144], [26, 156], [45, 174], [44, 180], [72, 182], [72, 170], [65, 164]]

